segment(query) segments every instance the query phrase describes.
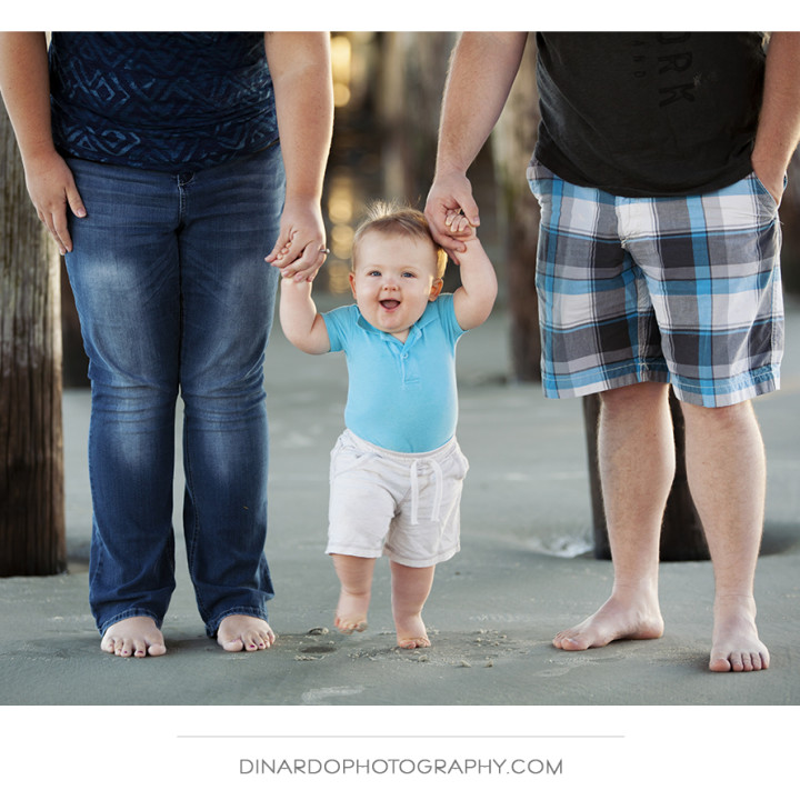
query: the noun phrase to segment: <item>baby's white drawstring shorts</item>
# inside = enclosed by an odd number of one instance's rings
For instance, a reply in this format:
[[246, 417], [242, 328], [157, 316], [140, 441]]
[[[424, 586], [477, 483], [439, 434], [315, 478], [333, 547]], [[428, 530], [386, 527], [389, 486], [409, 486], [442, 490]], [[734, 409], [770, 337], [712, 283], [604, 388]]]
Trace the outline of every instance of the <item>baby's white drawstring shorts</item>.
[[346, 430], [331, 451], [327, 553], [432, 567], [460, 549], [469, 462], [453, 437], [437, 450], [384, 450]]

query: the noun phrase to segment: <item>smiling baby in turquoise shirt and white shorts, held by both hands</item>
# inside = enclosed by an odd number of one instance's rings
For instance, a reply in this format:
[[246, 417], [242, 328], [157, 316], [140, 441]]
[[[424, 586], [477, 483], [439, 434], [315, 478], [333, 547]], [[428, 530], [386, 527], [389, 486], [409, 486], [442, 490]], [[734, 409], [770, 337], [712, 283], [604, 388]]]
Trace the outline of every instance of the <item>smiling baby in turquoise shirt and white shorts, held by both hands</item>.
[[459, 550], [467, 459], [456, 441], [456, 342], [481, 324], [497, 296], [494, 269], [461, 214], [461, 287], [442, 294], [447, 253], [426, 218], [378, 206], [353, 239], [354, 306], [317, 312], [311, 283], [284, 277], [280, 320], [308, 353], [343, 350], [347, 430], [331, 453], [327, 552], [341, 582], [334, 624], [367, 627], [376, 559], [391, 564], [401, 648], [430, 647], [422, 621], [436, 564]]

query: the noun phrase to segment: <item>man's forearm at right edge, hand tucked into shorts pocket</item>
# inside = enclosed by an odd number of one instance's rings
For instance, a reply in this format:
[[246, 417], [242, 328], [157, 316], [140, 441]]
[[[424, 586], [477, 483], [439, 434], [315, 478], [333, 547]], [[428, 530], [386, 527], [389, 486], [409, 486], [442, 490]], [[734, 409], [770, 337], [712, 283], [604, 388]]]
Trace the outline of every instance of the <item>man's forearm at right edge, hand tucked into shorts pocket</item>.
[[752, 167], [780, 202], [783, 176], [800, 140], [800, 33], [777, 32], [767, 50], [763, 100]]

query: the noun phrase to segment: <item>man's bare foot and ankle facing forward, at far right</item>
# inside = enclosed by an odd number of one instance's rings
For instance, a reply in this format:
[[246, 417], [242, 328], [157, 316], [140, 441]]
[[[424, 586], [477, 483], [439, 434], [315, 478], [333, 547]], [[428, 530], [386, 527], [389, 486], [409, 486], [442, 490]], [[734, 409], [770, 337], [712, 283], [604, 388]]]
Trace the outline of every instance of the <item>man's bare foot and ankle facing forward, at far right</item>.
[[714, 602], [714, 629], [709, 669], [712, 672], [757, 672], [769, 667], [769, 651], [756, 629], [756, 602], [728, 596]]

